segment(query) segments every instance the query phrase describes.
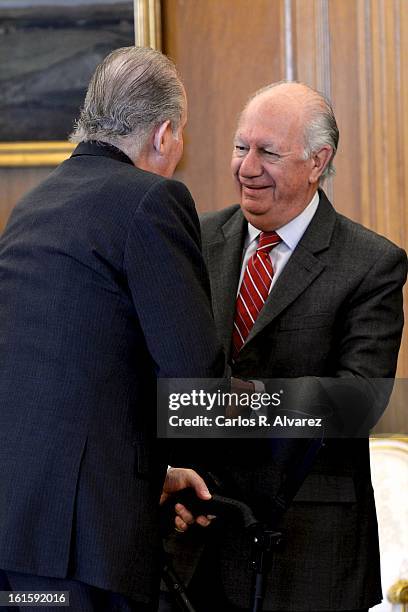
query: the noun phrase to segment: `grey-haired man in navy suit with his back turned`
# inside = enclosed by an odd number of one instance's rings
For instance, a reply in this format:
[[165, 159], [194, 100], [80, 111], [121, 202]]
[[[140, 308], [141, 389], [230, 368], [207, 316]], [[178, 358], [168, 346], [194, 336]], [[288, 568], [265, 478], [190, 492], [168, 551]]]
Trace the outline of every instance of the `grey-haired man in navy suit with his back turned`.
[[[170, 60], [113, 51], [79, 145], [0, 240], [0, 591], [12, 610], [34, 610], [33, 592], [51, 609], [66, 592], [75, 612], [156, 609], [169, 461], [156, 378], [224, 372], [194, 202], [170, 180], [186, 113]], [[207, 497], [190, 475], [166, 490]]]

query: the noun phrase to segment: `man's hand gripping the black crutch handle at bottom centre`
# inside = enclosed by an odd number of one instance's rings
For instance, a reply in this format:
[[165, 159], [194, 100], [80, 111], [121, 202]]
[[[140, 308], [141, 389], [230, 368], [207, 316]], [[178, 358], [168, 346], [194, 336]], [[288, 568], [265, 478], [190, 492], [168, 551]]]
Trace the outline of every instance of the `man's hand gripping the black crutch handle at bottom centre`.
[[[169, 468], [167, 471], [166, 480], [163, 485], [163, 492], [160, 498], [160, 504], [163, 504], [169, 499], [173, 493], [181, 491], [182, 489], [192, 488], [199, 499], [208, 500], [211, 499], [211, 493], [208, 490], [204, 480], [195, 472], [189, 468]], [[191, 512], [183, 506], [183, 504], [176, 504], [174, 506], [176, 512], [176, 518], [174, 524], [177, 531], [187, 531], [189, 525], [197, 523], [201, 527], [208, 527], [213, 516], [200, 515], [194, 517]]]

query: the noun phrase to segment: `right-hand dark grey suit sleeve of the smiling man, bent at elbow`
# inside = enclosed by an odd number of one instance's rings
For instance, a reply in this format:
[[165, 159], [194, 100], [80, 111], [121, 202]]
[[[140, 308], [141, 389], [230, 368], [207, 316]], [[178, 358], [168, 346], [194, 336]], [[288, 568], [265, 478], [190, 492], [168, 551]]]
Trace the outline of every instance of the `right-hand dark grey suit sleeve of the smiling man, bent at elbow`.
[[[334, 376], [292, 381], [292, 396], [297, 400], [292, 403], [328, 419], [334, 437], [366, 435], [387, 406], [404, 323], [406, 276], [405, 251], [393, 245], [378, 251], [339, 312]], [[288, 405], [290, 397], [287, 394]]]

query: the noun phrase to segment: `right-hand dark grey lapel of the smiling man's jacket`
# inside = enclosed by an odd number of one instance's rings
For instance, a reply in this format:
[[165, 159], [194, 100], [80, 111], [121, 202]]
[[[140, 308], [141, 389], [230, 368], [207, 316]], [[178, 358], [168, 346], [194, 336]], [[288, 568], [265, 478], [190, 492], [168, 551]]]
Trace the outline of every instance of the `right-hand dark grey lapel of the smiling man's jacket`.
[[316, 214], [269, 294], [244, 348], [294, 302], [325, 268], [325, 264], [316, 255], [330, 244], [336, 212], [323, 191], [319, 191], [319, 195]]

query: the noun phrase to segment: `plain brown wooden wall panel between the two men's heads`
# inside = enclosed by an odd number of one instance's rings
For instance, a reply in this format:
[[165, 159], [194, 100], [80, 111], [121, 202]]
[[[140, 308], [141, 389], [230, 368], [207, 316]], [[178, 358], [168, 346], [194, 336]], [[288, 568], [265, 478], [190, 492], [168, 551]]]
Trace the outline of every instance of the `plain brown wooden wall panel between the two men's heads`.
[[189, 120], [177, 177], [200, 210], [236, 202], [232, 136], [248, 95], [284, 78], [281, 0], [164, 0], [164, 50], [186, 84]]

